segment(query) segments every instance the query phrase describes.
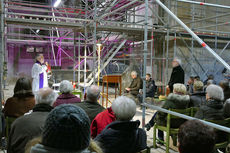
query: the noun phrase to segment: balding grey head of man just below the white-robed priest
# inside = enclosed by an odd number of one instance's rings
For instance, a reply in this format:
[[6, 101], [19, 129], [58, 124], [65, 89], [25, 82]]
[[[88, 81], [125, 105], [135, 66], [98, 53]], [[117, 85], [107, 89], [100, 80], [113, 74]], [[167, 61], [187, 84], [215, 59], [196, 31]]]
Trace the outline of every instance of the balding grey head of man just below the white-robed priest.
[[46, 88], [40, 89], [35, 94], [35, 101], [36, 101], [36, 104], [45, 103], [45, 104], [52, 106], [53, 103], [56, 101], [57, 96], [58, 95], [52, 89], [46, 87]]

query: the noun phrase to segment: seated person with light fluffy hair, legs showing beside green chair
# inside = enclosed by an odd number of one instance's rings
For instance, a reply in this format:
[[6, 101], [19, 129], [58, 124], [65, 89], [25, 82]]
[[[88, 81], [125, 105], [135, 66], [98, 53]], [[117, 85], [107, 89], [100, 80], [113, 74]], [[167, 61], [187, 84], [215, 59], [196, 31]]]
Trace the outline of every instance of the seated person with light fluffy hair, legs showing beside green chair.
[[[167, 97], [162, 108], [164, 109], [186, 109], [188, 107], [190, 98], [186, 95], [186, 87], [183, 84], [176, 83], [173, 85], [173, 93], [170, 93]], [[147, 131], [154, 126], [155, 122], [159, 125], [166, 126], [167, 114], [163, 112], [156, 112], [148, 124], [145, 125]], [[171, 120], [171, 127], [178, 128], [185, 122], [184, 119], [173, 119]], [[158, 138], [164, 140], [163, 131], [158, 130]]]

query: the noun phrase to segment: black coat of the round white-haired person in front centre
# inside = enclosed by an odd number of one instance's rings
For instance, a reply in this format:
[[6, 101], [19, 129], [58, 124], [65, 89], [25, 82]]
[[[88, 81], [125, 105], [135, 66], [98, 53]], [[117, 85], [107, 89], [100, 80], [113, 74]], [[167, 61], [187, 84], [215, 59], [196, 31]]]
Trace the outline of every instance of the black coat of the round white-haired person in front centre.
[[146, 132], [139, 126], [140, 121], [114, 121], [95, 140], [104, 153], [136, 153], [147, 147]]

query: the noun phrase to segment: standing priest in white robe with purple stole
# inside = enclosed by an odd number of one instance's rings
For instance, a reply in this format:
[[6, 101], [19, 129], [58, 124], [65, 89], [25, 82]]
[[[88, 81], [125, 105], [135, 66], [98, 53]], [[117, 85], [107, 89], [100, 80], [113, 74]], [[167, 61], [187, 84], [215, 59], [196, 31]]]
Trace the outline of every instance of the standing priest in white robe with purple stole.
[[32, 91], [36, 93], [39, 89], [48, 87], [47, 66], [44, 64], [43, 54], [36, 56], [36, 63], [32, 67]]

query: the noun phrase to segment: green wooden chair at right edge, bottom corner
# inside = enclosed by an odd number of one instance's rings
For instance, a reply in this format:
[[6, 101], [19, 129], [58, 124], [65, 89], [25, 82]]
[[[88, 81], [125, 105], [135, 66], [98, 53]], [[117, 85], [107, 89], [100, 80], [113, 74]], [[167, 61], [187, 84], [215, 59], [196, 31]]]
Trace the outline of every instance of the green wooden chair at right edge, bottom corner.
[[[230, 127], [230, 118], [224, 119], [224, 120], [207, 120], [205, 119], [205, 121], [211, 122], [211, 123], [215, 123], [218, 125], [222, 125], [222, 126], [226, 126], [226, 127]], [[221, 149], [224, 148], [226, 149], [226, 147], [228, 146], [228, 144], [230, 143], [230, 133], [226, 133], [220, 130], [215, 129], [216, 134], [218, 135], [223, 135], [226, 136], [226, 140], [222, 141], [222, 142], [218, 142], [215, 144], [215, 149]]]

